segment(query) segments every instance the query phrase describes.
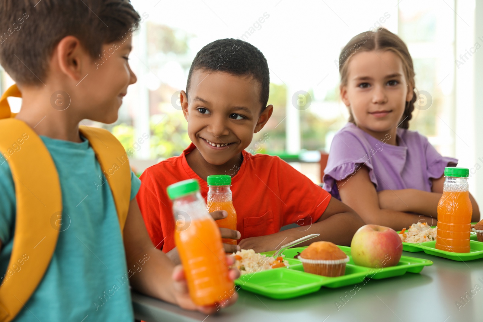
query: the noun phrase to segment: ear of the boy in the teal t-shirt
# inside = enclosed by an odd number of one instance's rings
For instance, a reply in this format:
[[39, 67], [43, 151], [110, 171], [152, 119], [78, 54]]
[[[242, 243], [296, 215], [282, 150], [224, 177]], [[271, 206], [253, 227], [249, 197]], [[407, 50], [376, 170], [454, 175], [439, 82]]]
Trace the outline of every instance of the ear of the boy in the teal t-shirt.
[[58, 44], [52, 56], [57, 60], [58, 68], [75, 82], [85, 76], [83, 66], [85, 57], [89, 56], [81, 46], [81, 42], [74, 36], [64, 37]]

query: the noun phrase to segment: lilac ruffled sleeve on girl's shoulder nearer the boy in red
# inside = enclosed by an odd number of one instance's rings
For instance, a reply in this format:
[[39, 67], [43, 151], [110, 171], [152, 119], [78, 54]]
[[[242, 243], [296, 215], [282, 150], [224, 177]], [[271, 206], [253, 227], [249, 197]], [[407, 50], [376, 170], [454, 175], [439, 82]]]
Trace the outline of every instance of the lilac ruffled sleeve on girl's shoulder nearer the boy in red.
[[378, 147], [369, 148], [369, 143], [363, 140], [354, 133], [343, 130], [332, 140], [327, 167], [324, 170], [324, 189], [339, 200], [341, 197], [336, 181], [347, 181], [362, 165], [369, 168], [369, 179], [377, 189], [378, 182], [371, 162], [374, 153], [371, 151], [377, 151]]

